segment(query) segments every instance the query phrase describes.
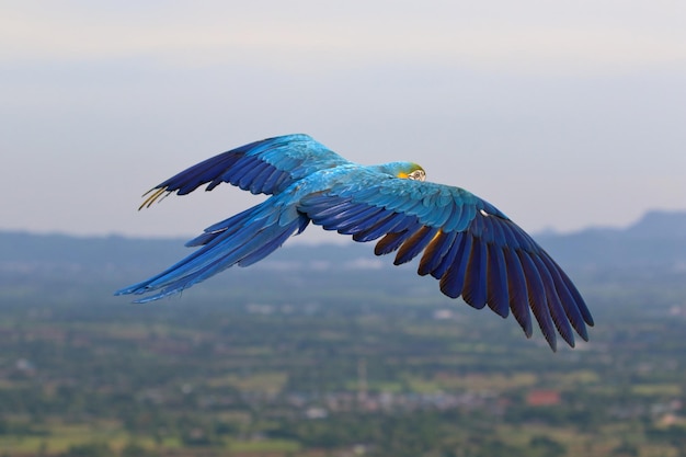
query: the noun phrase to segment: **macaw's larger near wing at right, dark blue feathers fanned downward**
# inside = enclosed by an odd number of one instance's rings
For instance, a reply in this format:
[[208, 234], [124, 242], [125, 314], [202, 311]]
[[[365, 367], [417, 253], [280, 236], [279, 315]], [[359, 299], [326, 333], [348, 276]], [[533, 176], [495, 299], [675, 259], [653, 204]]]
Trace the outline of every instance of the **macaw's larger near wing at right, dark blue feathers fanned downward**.
[[354, 183], [306, 196], [298, 207], [315, 224], [371, 241], [377, 255], [398, 251], [395, 264], [423, 252], [419, 274], [475, 308], [510, 311], [527, 336], [530, 311], [554, 351], [556, 331], [574, 346], [572, 328], [587, 340], [593, 318], [567, 274], [524, 230], [488, 202], [459, 188], [361, 172]]

